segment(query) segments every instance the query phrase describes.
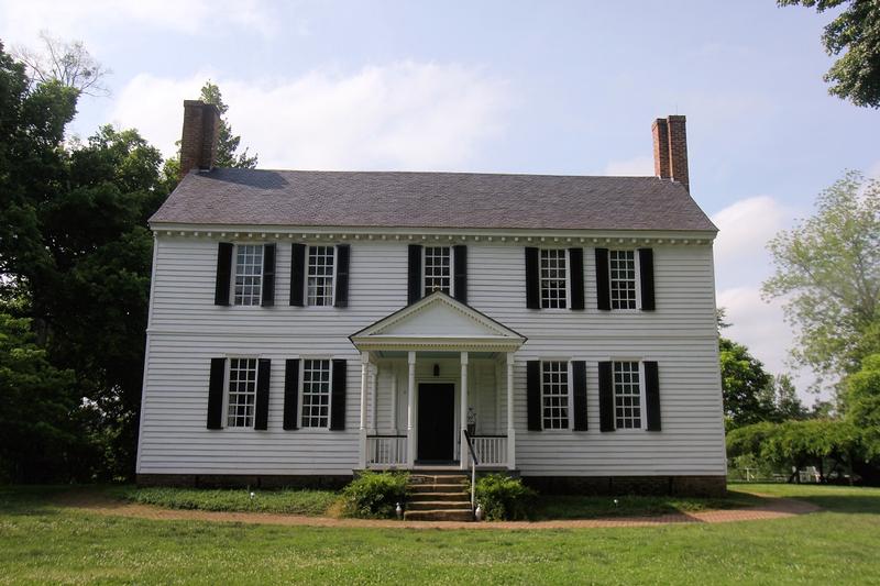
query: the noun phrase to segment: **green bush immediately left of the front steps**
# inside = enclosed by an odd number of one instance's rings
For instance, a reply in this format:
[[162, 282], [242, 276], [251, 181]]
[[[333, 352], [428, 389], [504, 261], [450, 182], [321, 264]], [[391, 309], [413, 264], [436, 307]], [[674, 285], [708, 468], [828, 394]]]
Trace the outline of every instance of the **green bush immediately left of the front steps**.
[[397, 504], [406, 500], [409, 474], [405, 472], [364, 472], [342, 489], [343, 512], [360, 519], [387, 519], [395, 516]]

